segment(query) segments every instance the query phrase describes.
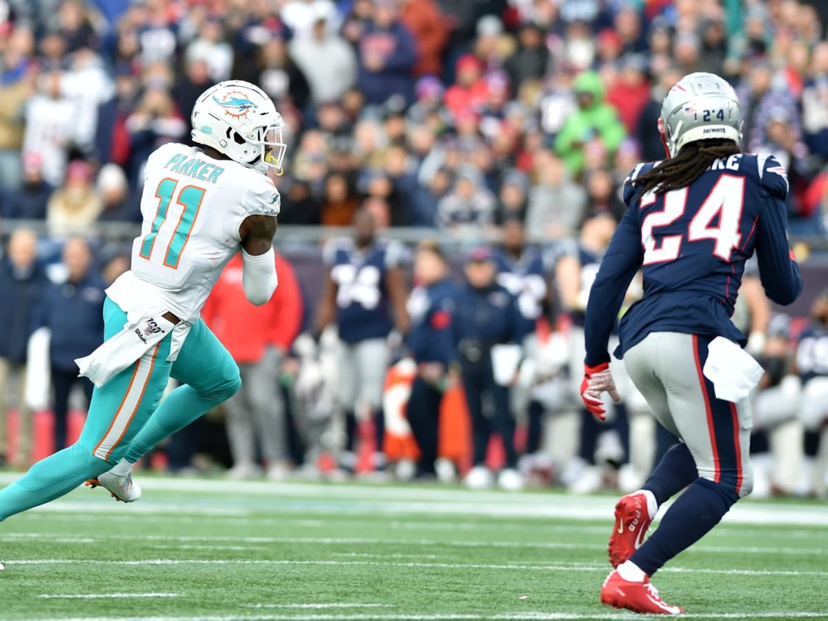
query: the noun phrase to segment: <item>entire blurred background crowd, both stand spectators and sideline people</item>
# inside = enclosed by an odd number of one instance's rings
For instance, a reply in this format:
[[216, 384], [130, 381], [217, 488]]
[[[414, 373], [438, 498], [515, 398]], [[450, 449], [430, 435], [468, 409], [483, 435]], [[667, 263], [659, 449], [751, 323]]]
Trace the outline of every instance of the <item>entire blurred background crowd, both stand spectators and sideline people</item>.
[[[619, 187], [663, 156], [667, 89], [710, 70], [739, 92], [744, 150], [787, 166], [791, 232], [822, 234], [826, 23], [806, 0], [0, 0], [0, 218], [48, 232], [3, 239], [0, 456], [31, 461], [46, 409], [66, 444], [91, 389], [74, 359], [103, 339], [103, 289], [129, 267], [89, 228], [140, 221], [147, 155], [189, 142], [198, 95], [238, 78], [286, 122], [280, 222], [354, 233], [312, 249], [318, 281], [278, 256], [261, 308], [229, 264], [204, 318], [244, 388], [152, 463], [637, 489], [672, 439], [623, 364], [607, 424], [578, 397]], [[463, 249], [388, 241], [399, 226]], [[748, 273], [740, 300], [767, 372], [756, 493], [824, 493], [828, 298], [772, 316]]]

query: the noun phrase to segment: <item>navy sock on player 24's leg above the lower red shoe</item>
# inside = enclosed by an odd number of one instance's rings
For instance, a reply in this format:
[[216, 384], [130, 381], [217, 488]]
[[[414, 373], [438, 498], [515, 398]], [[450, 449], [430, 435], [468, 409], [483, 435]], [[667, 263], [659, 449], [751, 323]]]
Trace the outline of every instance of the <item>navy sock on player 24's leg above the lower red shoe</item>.
[[739, 500], [736, 493], [707, 479], [696, 479], [664, 514], [656, 532], [630, 556], [647, 575], [686, 550], [715, 527]]

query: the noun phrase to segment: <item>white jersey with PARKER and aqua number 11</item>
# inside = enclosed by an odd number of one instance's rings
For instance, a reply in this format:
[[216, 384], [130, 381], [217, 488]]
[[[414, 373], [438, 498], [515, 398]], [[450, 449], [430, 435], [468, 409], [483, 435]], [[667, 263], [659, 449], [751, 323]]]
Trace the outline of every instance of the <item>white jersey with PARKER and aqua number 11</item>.
[[[142, 295], [151, 291], [157, 306], [192, 324], [241, 248], [244, 219], [276, 216], [280, 204], [273, 182], [252, 168], [175, 142], [159, 147], [144, 172], [143, 224], [132, 243], [132, 270], [108, 295], [129, 311], [147, 302], [136, 299], [136, 288]], [[134, 286], [136, 278], [149, 287]]]

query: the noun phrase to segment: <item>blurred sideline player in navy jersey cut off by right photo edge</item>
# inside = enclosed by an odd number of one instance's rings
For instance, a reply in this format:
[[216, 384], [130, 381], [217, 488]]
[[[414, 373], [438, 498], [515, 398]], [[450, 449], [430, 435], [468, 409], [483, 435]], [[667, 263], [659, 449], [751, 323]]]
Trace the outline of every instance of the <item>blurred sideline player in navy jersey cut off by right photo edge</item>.
[[828, 291], [823, 291], [811, 307], [811, 321], [799, 335], [794, 366], [802, 382], [802, 425], [811, 440], [819, 443], [811, 470], [811, 490], [822, 496], [828, 469]]

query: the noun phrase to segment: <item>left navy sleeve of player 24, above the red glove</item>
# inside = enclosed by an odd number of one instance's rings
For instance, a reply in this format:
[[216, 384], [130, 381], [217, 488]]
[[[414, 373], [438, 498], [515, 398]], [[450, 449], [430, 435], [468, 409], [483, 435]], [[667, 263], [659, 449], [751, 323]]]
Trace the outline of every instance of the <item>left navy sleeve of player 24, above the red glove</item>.
[[629, 283], [632, 282], [643, 260], [637, 210], [630, 207], [623, 214], [609, 248], [601, 260], [601, 267], [586, 305], [585, 363], [590, 367], [609, 362], [609, 335], [618, 318]]

